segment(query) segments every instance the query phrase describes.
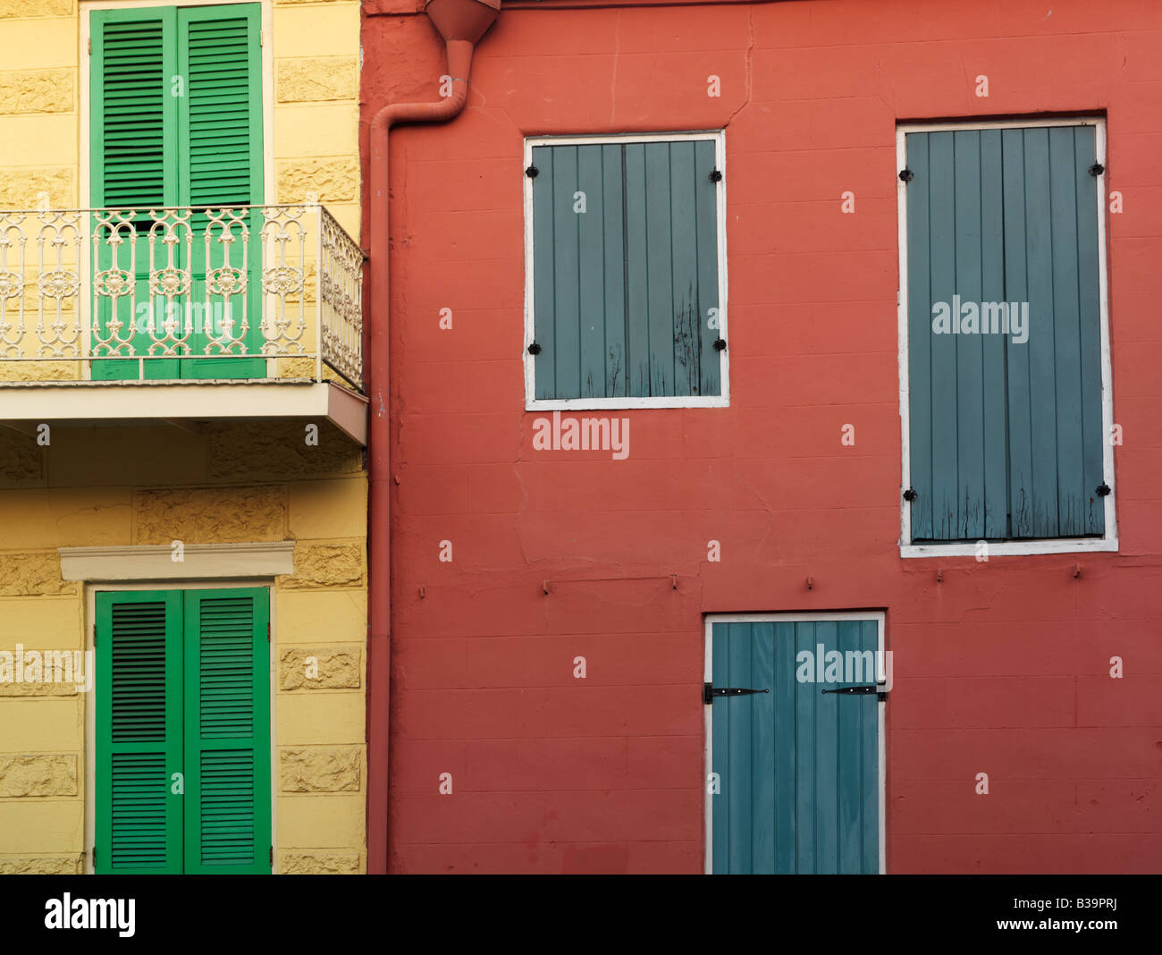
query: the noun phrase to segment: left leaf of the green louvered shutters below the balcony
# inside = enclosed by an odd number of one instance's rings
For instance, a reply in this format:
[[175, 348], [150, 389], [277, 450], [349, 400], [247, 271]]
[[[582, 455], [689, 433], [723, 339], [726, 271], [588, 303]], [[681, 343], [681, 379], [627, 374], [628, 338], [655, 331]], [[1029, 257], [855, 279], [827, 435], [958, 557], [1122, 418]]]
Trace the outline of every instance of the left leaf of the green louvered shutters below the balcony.
[[[181, 602], [96, 594], [95, 870], [180, 873]], [[180, 789], [180, 787], [179, 787]]]

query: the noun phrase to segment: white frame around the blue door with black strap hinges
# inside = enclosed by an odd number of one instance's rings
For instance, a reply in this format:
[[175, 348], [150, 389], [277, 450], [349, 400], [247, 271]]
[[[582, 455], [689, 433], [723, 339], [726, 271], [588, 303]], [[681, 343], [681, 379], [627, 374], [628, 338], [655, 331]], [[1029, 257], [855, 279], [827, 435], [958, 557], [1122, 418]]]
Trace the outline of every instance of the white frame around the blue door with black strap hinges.
[[[816, 610], [804, 610], [799, 612], [788, 611], [780, 613], [706, 613], [705, 615], [705, 638], [704, 638], [704, 649], [705, 649], [705, 668], [704, 668], [704, 680], [706, 683], [713, 683], [713, 625], [715, 624], [786, 624], [786, 623], [818, 623], [818, 622], [838, 622], [838, 620], [875, 620], [876, 631], [878, 637], [878, 659], [884, 658], [884, 624], [887, 615], [883, 610], [842, 610], [842, 611], [816, 611]], [[876, 702], [876, 734], [877, 739], [877, 785], [878, 785], [878, 849], [880, 849], [880, 875], [887, 875], [888, 873], [888, 804], [887, 804], [887, 790], [888, 790], [888, 740], [884, 732], [884, 708], [887, 706], [887, 701], [881, 696]], [[711, 796], [706, 790], [706, 781], [710, 778], [710, 774], [713, 773], [713, 708], [715, 704], [711, 703], [709, 706], [703, 704], [703, 724], [705, 727], [705, 771], [703, 773], [703, 785], [702, 792], [705, 799], [705, 868], [706, 875], [713, 875], [713, 863], [715, 863], [715, 797]], [[772, 754], [774, 755], [774, 754]]]

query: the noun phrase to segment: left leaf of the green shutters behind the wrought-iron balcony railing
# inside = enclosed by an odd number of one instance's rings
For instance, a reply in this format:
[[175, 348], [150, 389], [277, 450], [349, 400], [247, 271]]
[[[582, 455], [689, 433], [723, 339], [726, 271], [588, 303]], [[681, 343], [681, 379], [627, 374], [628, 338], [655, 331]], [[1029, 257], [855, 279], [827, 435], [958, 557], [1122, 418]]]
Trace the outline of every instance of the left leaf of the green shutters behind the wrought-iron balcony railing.
[[[124, 328], [141, 317], [149, 303], [150, 247], [149, 209], [178, 204], [178, 98], [171, 95], [171, 78], [177, 73], [173, 36], [177, 9], [94, 10], [92, 59], [92, 202], [94, 208], [131, 208], [137, 237], [134, 240], [136, 295], [114, 302], [102, 296], [98, 322], [102, 330], [110, 321]], [[119, 234], [125, 237], [124, 232]], [[109, 268], [113, 253], [101, 234], [95, 272]], [[132, 239], [131, 239], [132, 240]], [[158, 244], [158, 249], [164, 249]], [[162, 254], [157, 252], [155, 254]], [[129, 252], [117, 252], [117, 266], [129, 264]], [[164, 317], [159, 314], [158, 316]], [[134, 353], [144, 353], [151, 338], [144, 331], [134, 335]], [[94, 361], [98, 380], [137, 378], [134, 361]], [[175, 360], [145, 364], [145, 376], [175, 378]]]

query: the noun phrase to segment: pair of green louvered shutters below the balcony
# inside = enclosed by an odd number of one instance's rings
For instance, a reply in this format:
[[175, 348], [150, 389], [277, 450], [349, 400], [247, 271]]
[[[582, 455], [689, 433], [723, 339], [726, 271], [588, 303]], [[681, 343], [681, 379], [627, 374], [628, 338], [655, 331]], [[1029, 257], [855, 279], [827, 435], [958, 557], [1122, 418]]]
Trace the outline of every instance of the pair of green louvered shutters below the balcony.
[[268, 601], [96, 594], [98, 874], [271, 871]]

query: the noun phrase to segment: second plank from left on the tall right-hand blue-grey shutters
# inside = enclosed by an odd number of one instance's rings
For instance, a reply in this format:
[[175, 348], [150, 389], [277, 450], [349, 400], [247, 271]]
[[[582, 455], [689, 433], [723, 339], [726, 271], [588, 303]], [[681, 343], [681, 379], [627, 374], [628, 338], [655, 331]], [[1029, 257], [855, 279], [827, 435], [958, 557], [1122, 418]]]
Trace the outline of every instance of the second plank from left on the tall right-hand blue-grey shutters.
[[[947, 302], [949, 308], [956, 294], [957, 249], [953, 136], [952, 132], [933, 132], [928, 136], [931, 301]], [[955, 315], [952, 319], [955, 323]], [[931, 311], [927, 325], [932, 328]], [[955, 335], [931, 336], [932, 533], [941, 540], [954, 540], [960, 527], [956, 479], [956, 338]]]

